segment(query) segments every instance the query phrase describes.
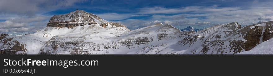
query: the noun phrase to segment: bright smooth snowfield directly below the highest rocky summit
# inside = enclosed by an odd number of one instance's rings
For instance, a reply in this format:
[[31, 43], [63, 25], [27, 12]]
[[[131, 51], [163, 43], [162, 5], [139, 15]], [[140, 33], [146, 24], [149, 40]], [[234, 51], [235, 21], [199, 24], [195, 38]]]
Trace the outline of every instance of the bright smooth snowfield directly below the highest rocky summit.
[[[64, 27], [64, 28], [46, 27], [42, 30], [39, 30], [38, 32], [34, 34], [28, 34], [23, 36], [10, 35], [10, 37], [15, 38], [18, 42], [22, 44], [26, 44], [27, 45], [26, 48], [28, 50], [27, 54], [38, 54], [42, 46], [48, 40], [50, 40], [52, 37], [56, 35], [61, 37], [68, 37], [65, 39], [69, 41], [69, 39], [73, 36], [83, 37], [84, 35], [89, 35], [87, 36], [89, 38], [97, 37], [97, 36], [110, 38], [110, 37], [114, 37], [114, 35], [122, 34], [125, 31], [129, 31], [129, 29], [124, 27], [117, 28], [117, 27], [110, 27], [110, 26], [109, 28], [103, 28], [99, 26], [98, 24], [93, 24], [93, 25], [77, 26], [73, 29], [69, 29], [67, 27]], [[76, 38], [71, 38], [71, 39], [75, 40]], [[99, 39], [94, 41], [105, 42], [105, 40], [99, 40]]]

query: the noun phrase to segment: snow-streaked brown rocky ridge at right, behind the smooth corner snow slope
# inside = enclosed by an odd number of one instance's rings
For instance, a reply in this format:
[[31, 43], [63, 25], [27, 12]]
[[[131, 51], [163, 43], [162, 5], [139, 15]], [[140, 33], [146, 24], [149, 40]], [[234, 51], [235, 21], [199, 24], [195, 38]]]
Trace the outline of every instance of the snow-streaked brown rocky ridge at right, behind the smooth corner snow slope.
[[186, 54], [236, 54], [273, 38], [272, 21], [241, 27], [232, 22], [189, 34], [180, 41]]

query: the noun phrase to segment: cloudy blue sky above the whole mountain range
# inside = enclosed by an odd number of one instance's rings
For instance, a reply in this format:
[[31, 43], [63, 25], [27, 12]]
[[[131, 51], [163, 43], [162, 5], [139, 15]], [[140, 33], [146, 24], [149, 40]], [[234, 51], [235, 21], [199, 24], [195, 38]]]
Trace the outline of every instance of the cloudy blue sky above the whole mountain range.
[[157, 22], [201, 29], [273, 20], [272, 0], [0, 0], [0, 32], [34, 32], [76, 9], [136, 29]]

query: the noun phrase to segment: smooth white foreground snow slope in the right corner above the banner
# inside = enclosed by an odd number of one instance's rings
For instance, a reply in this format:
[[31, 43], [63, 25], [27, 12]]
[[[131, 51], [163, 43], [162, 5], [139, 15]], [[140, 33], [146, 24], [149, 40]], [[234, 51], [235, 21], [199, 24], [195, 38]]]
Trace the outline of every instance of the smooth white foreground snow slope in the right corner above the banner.
[[262, 42], [255, 46], [252, 50], [244, 51], [238, 54], [273, 54], [273, 39]]

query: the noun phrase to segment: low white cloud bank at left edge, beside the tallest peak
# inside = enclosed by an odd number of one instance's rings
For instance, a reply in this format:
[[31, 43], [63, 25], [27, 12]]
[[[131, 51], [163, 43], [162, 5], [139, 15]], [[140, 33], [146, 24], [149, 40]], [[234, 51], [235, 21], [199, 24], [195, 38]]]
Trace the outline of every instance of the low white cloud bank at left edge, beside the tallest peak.
[[33, 32], [46, 26], [50, 17], [16, 17], [0, 22], [0, 32]]

